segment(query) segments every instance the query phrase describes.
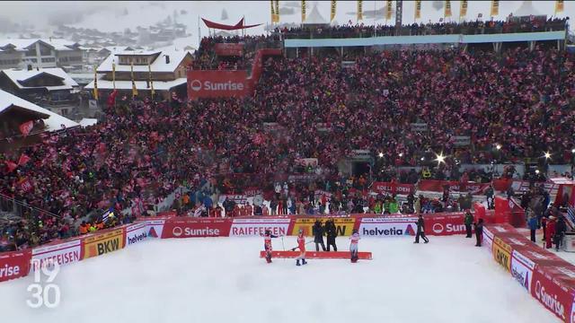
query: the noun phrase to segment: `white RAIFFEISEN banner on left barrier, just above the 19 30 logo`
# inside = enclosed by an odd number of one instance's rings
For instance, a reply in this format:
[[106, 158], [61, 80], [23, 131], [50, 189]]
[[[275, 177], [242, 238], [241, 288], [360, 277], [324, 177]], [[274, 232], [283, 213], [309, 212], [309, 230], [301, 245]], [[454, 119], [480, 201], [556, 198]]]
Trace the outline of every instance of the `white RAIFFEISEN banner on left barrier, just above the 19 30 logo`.
[[[32, 249], [32, 266], [31, 271], [46, 266], [48, 261], [57, 262], [63, 266], [80, 261], [82, 258], [82, 241], [80, 239], [58, 242]], [[36, 262], [34, 260], [39, 260]]]

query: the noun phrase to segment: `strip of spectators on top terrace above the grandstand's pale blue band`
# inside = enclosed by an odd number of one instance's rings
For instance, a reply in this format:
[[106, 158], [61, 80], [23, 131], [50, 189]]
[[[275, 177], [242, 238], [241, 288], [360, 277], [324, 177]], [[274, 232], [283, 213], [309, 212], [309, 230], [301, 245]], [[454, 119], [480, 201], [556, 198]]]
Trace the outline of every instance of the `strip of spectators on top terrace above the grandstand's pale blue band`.
[[365, 38], [374, 36], [415, 36], [415, 35], [449, 35], [449, 34], [495, 34], [534, 31], [565, 31], [569, 18], [549, 18], [548, 20], [535, 17], [522, 17], [514, 19], [512, 16], [506, 21], [471, 21], [471, 22], [428, 22], [403, 25], [397, 31], [394, 25], [379, 24], [376, 26], [355, 24], [325, 26], [325, 27], [293, 27], [277, 28], [276, 33], [284, 39], [317, 38]]

